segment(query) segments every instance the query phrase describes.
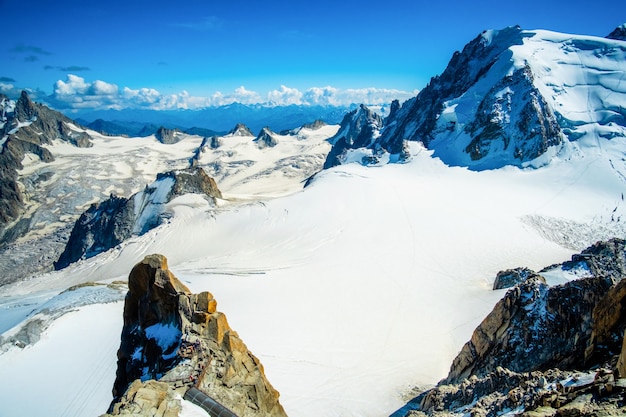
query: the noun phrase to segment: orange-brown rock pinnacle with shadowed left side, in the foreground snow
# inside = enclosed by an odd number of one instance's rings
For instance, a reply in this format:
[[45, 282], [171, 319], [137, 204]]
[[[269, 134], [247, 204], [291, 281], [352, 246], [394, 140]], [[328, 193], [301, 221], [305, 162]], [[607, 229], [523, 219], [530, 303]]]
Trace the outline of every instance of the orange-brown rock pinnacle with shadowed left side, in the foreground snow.
[[164, 402], [176, 409], [172, 393], [194, 387], [239, 417], [285, 416], [261, 363], [210, 293], [192, 294], [161, 255], [138, 263], [128, 288], [108, 415], [151, 416]]

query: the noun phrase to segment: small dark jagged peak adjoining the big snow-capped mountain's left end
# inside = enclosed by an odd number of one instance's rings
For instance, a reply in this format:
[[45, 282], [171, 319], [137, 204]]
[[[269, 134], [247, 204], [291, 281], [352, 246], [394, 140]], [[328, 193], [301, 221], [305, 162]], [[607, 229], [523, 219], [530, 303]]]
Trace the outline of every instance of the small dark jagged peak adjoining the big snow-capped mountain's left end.
[[324, 169], [340, 165], [341, 157], [348, 149], [372, 146], [382, 126], [382, 118], [363, 104], [346, 114], [337, 134], [328, 140], [333, 147], [324, 162]]

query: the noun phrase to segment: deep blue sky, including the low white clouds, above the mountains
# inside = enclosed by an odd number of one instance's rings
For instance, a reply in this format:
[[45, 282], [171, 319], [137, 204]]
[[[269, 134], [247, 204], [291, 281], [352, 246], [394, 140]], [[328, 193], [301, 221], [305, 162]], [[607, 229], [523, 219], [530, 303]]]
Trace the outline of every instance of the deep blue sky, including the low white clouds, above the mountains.
[[604, 36], [626, 21], [626, 5], [614, 0], [0, 0], [0, 16], [4, 89], [65, 94], [58, 106], [134, 100], [165, 108], [229, 100], [295, 102], [306, 94], [406, 98], [484, 29], [519, 24]]

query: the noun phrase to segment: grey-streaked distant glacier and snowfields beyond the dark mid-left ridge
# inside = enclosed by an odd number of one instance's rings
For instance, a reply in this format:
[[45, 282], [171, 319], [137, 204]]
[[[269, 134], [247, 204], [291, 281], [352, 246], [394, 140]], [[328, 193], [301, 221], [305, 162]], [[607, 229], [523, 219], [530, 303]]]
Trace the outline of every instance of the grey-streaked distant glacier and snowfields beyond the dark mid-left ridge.
[[[93, 131], [88, 131], [93, 138], [90, 148], [53, 141], [46, 147], [54, 155], [53, 162], [43, 163], [34, 154], [27, 154], [23, 161], [19, 182], [28, 196], [23, 217], [30, 218], [30, 231], [17, 245], [0, 250], [0, 283], [15, 275], [23, 277], [21, 271], [12, 272], [22, 265], [51, 267], [63, 251], [74, 221], [90, 204], [106, 200], [110, 194], [130, 197], [151, 184], [157, 173], [187, 168], [199, 148], [198, 166], [230, 193], [227, 199], [264, 195], [263, 182], [255, 181], [258, 178], [272, 178], [273, 185], [282, 184], [283, 193], [298, 190], [321, 169], [330, 149], [326, 139], [337, 128], [277, 135], [278, 145], [266, 149], [259, 149], [254, 137], [232, 135], [220, 138], [223, 145], [217, 149], [201, 146], [200, 136], [186, 134], [174, 145], [163, 144], [154, 136], [125, 138]], [[82, 131], [76, 126], [72, 129]]]

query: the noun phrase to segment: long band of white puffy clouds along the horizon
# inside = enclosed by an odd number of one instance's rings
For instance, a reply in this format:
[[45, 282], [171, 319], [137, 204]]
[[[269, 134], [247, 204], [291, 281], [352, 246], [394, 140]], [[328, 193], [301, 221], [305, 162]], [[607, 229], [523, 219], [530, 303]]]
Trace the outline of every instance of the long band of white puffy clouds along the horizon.
[[201, 109], [233, 103], [287, 105], [347, 106], [353, 103], [381, 105], [392, 100], [407, 100], [417, 91], [401, 91], [381, 88], [338, 89], [330, 86], [312, 87], [305, 91], [281, 85], [266, 94], [248, 90], [244, 86], [231, 93], [217, 91], [210, 96], [194, 96], [187, 91], [177, 94], [162, 94], [153, 88], [120, 88], [115, 84], [70, 74], [65, 81], [54, 84], [54, 92], [47, 97], [51, 105], [62, 110], [90, 109]]

